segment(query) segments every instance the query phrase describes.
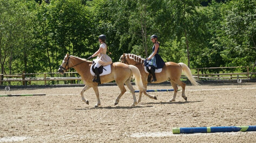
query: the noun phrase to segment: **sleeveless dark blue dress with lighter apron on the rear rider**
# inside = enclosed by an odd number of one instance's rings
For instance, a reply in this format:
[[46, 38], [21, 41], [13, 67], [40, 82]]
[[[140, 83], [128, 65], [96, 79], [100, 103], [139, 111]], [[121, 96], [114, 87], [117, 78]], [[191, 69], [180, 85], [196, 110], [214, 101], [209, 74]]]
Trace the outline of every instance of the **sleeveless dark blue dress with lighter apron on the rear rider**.
[[[155, 56], [153, 56], [150, 60], [148, 60], [146, 63], [145, 63], [145, 66], [150, 66], [150, 67], [153, 67], [153, 68], [155, 68], [155, 69], [162, 69], [163, 68], [163, 66], [165, 65], [165, 62], [163, 61], [163, 59], [160, 57], [160, 55], [158, 54], [158, 52], [159, 52], [159, 49], [160, 49], [160, 45], [159, 45], [159, 47], [158, 47], [158, 49], [157, 49], [157, 51], [156, 51], [156, 54], [155, 54]], [[153, 53], [155, 52], [155, 44], [154, 44], [154, 46], [153, 46], [153, 48], [152, 48], [152, 53], [151, 53], [151, 55], [150, 56], [152, 56], [153, 55]]]

